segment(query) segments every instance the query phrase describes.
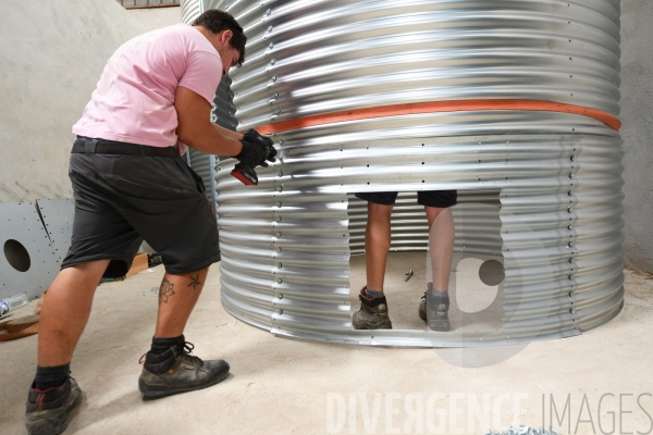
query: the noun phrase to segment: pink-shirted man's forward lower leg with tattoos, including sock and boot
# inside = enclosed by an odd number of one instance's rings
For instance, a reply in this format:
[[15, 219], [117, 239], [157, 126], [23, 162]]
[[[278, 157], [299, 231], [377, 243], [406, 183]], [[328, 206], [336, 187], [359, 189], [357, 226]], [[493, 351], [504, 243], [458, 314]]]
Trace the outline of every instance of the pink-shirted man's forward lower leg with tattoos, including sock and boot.
[[223, 360], [202, 361], [190, 356], [193, 345], [184, 328], [204, 287], [209, 269], [185, 274], [167, 273], [159, 287], [159, 315], [150, 350], [145, 355], [138, 389], [145, 397], [163, 397], [206, 388], [229, 374]]

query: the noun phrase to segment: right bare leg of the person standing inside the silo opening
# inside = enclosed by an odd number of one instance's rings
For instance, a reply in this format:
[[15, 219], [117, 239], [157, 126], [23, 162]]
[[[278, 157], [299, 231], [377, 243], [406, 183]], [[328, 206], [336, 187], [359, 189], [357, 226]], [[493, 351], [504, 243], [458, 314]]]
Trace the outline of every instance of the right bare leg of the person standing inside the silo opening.
[[429, 234], [432, 235], [429, 249], [433, 266], [433, 287], [439, 291], [448, 289], [454, 254], [455, 227], [451, 208], [424, 207], [429, 220]]

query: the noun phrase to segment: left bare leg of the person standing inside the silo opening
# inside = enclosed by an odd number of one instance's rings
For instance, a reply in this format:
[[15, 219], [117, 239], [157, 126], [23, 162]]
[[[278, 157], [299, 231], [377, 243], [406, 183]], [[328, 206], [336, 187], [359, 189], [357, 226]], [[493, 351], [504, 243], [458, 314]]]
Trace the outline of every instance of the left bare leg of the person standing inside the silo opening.
[[365, 265], [368, 288], [383, 291], [385, 263], [390, 251], [390, 216], [393, 206], [368, 202], [368, 222], [365, 229]]

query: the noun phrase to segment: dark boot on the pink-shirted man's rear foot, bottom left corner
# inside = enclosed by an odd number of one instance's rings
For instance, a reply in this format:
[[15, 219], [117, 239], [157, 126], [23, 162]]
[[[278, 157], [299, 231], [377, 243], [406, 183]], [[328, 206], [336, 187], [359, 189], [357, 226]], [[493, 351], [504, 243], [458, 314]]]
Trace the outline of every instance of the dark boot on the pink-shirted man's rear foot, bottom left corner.
[[67, 427], [67, 414], [82, 401], [82, 390], [74, 378], [67, 377], [58, 387], [36, 389], [32, 384], [27, 396], [25, 426], [29, 435], [61, 434]]

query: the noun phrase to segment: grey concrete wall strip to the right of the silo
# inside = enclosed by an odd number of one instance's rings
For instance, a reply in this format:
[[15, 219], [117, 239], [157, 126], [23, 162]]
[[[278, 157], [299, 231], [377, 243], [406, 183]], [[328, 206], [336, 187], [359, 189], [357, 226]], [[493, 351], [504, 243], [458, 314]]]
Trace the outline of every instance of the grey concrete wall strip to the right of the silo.
[[653, 1], [621, 1], [626, 263], [653, 272]]

